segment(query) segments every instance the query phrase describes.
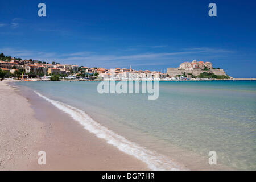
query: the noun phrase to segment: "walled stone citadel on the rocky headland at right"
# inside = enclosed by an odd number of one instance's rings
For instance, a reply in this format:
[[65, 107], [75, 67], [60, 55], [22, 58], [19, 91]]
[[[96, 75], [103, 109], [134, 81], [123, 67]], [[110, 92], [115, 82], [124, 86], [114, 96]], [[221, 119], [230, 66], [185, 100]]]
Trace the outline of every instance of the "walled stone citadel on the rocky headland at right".
[[177, 75], [185, 75], [188, 78], [199, 76], [200, 74], [214, 74], [217, 76], [228, 76], [224, 69], [213, 68], [212, 63], [196, 61], [184, 62], [180, 64], [179, 68], [168, 68], [167, 74], [170, 77], [176, 77]]

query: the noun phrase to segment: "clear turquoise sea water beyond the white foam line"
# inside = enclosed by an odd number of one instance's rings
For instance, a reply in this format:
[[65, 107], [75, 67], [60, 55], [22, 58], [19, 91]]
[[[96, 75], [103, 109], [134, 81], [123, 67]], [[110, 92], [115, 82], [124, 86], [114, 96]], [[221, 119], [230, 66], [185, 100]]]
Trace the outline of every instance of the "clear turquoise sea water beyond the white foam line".
[[[131, 142], [168, 156], [171, 146], [256, 169], [255, 81], [161, 81], [159, 98], [99, 94], [99, 82], [18, 82], [76, 107]], [[170, 145], [170, 148], [168, 147]]]

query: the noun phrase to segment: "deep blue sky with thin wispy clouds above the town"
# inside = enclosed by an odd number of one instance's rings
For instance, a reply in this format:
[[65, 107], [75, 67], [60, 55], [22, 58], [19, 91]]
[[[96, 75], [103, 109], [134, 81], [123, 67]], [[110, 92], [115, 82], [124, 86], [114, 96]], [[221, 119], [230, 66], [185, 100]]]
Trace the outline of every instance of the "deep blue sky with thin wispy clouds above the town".
[[[38, 4], [46, 3], [46, 17]], [[208, 5], [217, 5], [217, 17]], [[211, 61], [256, 77], [255, 1], [1, 1], [0, 52], [88, 67], [166, 71]]]

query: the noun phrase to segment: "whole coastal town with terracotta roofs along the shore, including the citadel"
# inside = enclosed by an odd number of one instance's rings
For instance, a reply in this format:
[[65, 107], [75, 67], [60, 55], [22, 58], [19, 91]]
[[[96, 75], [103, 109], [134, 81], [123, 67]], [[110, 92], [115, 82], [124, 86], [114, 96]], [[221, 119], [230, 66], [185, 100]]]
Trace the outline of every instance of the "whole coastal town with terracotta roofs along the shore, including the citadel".
[[230, 79], [225, 71], [213, 68], [209, 61], [181, 63], [179, 68], [168, 68], [166, 73], [130, 68], [89, 68], [76, 64], [46, 63], [38, 60], [22, 60], [0, 55], [0, 78], [24, 81], [67, 80], [222, 80]]

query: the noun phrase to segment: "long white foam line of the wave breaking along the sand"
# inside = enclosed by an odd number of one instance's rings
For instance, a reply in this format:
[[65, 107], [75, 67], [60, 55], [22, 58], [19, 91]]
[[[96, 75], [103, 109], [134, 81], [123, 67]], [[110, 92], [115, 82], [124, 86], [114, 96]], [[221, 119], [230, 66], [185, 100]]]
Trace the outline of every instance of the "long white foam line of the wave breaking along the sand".
[[160, 155], [155, 151], [148, 150], [136, 143], [130, 142], [125, 137], [122, 137], [121, 135], [107, 129], [105, 126], [102, 126], [100, 123], [94, 121], [84, 111], [68, 104], [64, 104], [63, 102], [51, 100], [36, 91], [34, 92], [48, 102], [51, 102], [51, 104], [58, 109], [68, 113], [75, 121], [79, 122], [82, 126], [84, 126], [84, 129], [88, 130], [90, 133], [95, 134], [98, 138], [105, 139], [107, 143], [117, 147], [120, 151], [133, 155], [135, 158], [142, 160], [142, 162], [148, 165], [148, 168], [152, 170], [182, 169], [179, 165], [172, 162], [166, 156]]

